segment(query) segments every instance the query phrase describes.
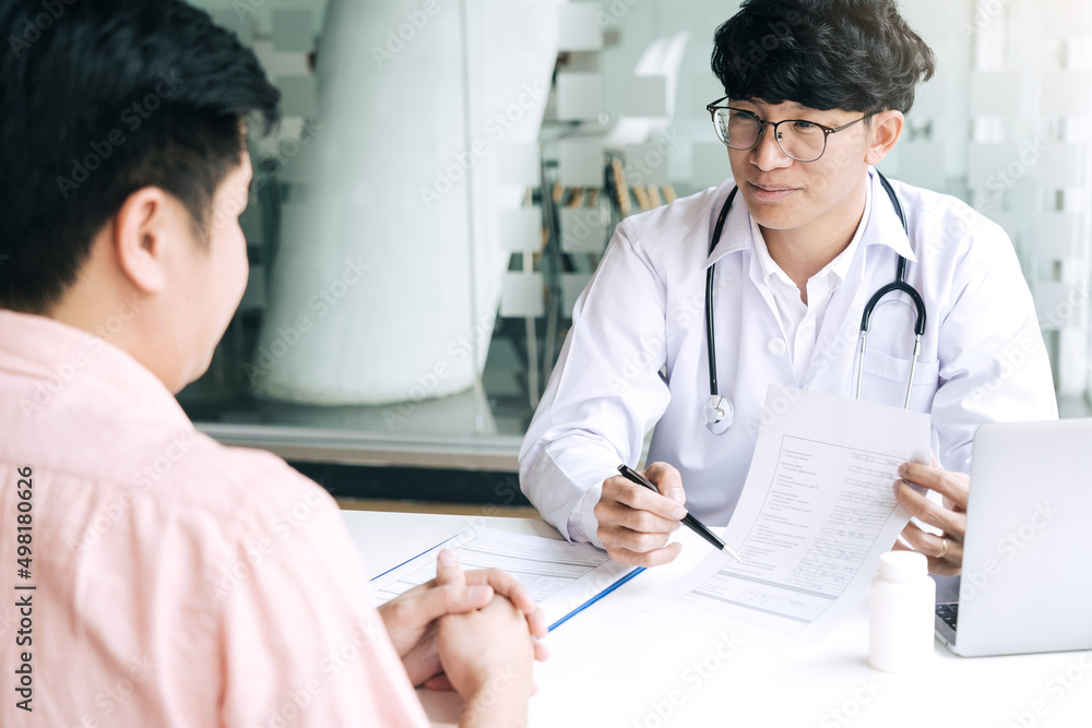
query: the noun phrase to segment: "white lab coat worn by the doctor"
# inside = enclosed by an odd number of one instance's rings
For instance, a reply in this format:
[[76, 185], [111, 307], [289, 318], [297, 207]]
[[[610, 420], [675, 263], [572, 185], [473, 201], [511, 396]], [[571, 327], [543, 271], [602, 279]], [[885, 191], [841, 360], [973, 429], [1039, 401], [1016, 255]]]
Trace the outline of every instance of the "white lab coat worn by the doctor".
[[[987, 421], [1057, 418], [1049, 361], [1031, 293], [1005, 231], [963, 202], [898, 181], [910, 236], [875, 171], [869, 212], [844, 282], [827, 301], [803, 381], [794, 373], [772, 294], [762, 282], [750, 215], [739, 195], [709, 254], [727, 181], [618, 225], [577, 301], [561, 349], [520, 452], [523, 492], [570, 540], [596, 537], [603, 480], [636, 466], [655, 427], [649, 462], [679, 469], [687, 508], [724, 525], [750, 465], [771, 383], [853, 396], [866, 301], [894, 279], [925, 300], [927, 321], [911, 407], [931, 411], [934, 452], [970, 470], [975, 429]], [[705, 271], [716, 263], [717, 382], [735, 406], [727, 432], [705, 429]], [[876, 308], [862, 398], [901, 407], [913, 351], [904, 294]], [[665, 375], [661, 377], [661, 369]]]

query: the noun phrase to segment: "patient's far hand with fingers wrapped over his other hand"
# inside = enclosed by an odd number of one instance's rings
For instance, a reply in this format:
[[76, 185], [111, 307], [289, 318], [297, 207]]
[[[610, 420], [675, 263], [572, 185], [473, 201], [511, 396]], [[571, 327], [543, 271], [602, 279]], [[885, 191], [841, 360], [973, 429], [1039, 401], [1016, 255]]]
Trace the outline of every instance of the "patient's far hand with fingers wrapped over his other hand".
[[[527, 588], [499, 569], [464, 572], [454, 551], [440, 551], [436, 578], [415, 586], [379, 607], [395, 652], [415, 685], [446, 689], [440, 651], [437, 644], [439, 620], [483, 609], [502, 596], [524, 617], [527, 636], [546, 636], [546, 618], [531, 599]], [[546, 645], [534, 642], [535, 658], [549, 656]], [[426, 682], [427, 681], [427, 682]]]

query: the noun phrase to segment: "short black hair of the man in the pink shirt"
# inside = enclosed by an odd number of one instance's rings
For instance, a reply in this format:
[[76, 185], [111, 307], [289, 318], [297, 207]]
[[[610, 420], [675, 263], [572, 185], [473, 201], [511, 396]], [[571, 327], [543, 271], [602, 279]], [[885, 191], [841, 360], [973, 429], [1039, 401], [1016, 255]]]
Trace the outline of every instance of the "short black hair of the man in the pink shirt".
[[206, 240], [244, 122], [278, 119], [253, 51], [179, 0], [0, 0], [0, 40], [2, 308], [48, 312], [141, 188]]

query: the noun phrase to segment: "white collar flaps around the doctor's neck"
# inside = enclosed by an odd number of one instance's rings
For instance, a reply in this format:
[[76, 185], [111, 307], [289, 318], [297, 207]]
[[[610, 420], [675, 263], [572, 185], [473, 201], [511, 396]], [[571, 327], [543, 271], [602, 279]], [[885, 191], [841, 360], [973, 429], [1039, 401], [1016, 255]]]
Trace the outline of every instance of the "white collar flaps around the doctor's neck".
[[[894, 183], [892, 183], [893, 186]], [[716, 217], [721, 214], [721, 208], [724, 205], [724, 201], [727, 200], [728, 193], [735, 188], [735, 183], [728, 180], [716, 191], [715, 199], [720, 201], [720, 204], [714, 205], [711, 211], [710, 219], [710, 238], [712, 238], [713, 229], [716, 225]], [[876, 195], [880, 195], [878, 199], [881, 204], [874, 205], [871, 203]], [[909, 218], [909, 213], [907, 218]], [[757, 237], [757, 226], [751, 219], [750, 213], [747, 211], [747, 205], [739, 200], [739, 195], [732, 203], [732, 210], [728, 211], [727, 219], [724, 220], [724, 230], [721, 235], [720, 242], [713, 249], [713, 252], [705, 259], [705, 267], [713, 265], [719, 260], [728, 255], [731, 253], [757, 249], [760, 244], [765, 246], [764, 241], [759, 242]], [[830, 270], [835, 273], [840, 279], [844, 281], [846, 274], [848, 273], [850, 265], [853, 262], [853, 256], [856, 249], [860, 246], [873, 246], [873, 244], [885, 244], [891, 250], [893, 250], [899, 255], [902, 255], [911, 262], [917, 262], [917, 256], [914, 254], [913, 248], [910, 246], [910, 239], [906, 237], [905, 230], [902, 229], [902, 223], [899, 222], [899, 215], [894, 210], [894, 205], [890, 204], [887, 191], [883, 189], [879, 180], [879, 172], [877, 172], [873, 167], [868, 168], [868, 184], [865, 191], [865, 212], [860, 217], [860, 224], [857, 226], [857, 230], [850, 241], [850, 244], [845, 250], [842, 251], [833, 261], [831, 261], [824, 271]], [[773, 259], [770, 258], [769, 251], [763, 251], [765, 258], [769, 262], [773, 263]], [[760, 263], [764, 263], [761, 260], [762, 253], [758, 253], [760, 258]], [[778, 268], [780, 270], [780, 267]], [[771, 271], [769, 271], [765, 265], [762, 266], [763, 277], [768, 276]], [[784, 275], [784, 274], [782, 274]]]

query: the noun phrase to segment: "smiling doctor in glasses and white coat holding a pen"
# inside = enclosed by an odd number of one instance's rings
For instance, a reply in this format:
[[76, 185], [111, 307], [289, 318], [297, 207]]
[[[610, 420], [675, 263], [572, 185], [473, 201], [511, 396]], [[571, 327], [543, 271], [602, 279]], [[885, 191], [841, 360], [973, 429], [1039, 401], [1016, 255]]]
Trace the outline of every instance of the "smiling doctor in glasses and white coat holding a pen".
[[[709, 110], [732, 179], [618, 225], [523, 443], [523, 491], [570, 540], [621, 563], [670, 561], [687, 511], [732, 516], [769, 384], [854, 396], [862, 313], [901, 256], [927, 313], [909, 406], [930, 413], [937, 462], [904, 466], [894, 491], [939, 533], [912, 522], [898, 548], [958, 573], [975, 429], [1056, 418], [1057, 404], [1006, 234], [957, 199], [900, 182], [889, 193], [874, 169], [933, 52], [891, 0], [747, 0], [714, 44], [726, 97]], [[915, 321], [905, 293], [876, 306], [863, 399], [903, 406]], [[707, 427], [711, 354], [726, 429]], [[660, 494], [616, 472], [653, 428], [645, 475]]]

